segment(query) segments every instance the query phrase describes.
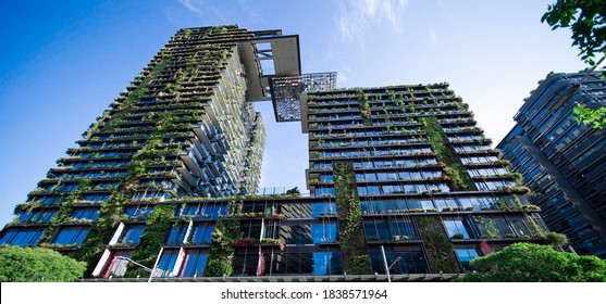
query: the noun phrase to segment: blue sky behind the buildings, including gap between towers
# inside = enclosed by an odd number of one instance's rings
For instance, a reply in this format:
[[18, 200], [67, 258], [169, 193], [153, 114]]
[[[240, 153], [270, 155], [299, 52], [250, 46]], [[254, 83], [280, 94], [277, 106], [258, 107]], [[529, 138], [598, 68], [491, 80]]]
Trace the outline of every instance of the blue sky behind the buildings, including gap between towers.
[[[238, 24], [300, 37], [304, 73], [339, 87], [448, 81], [497, 143], [536, 81], [585, 66], [552, 1], [4, 1], [0, 7], [0, 225], [182, 27]], [[307, 137], [273, 123], [264, 187], [305, 188]], [[305, 190], [304, 190], [305, 191]]]

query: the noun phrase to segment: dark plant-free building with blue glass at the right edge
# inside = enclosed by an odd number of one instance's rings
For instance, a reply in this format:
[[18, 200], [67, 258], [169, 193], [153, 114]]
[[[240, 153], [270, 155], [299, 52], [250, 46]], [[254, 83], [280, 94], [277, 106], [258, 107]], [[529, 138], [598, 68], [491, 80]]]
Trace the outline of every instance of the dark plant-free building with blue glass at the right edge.
[[576, 103], [606, 104], [597, 72], [548, 75], [498, 148], [537, 193], [531, 202], [549, 229], [567, 235], [577, 253], [606, 258], [606, 131], [579, 125]]

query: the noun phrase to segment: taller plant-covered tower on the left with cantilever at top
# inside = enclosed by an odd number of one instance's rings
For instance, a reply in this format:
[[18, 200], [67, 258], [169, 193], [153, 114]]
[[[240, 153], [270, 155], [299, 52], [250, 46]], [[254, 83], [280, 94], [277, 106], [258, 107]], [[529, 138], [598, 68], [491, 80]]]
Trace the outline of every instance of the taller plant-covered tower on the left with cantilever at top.
[[265, 136], [250, 101], [269, 87], [260, 61], [300, 74], [297, 43], [280, 30], [180, 30], [17, 205], [0, 243], [91, 263], [116, 227], [136, 245], [146, 226], [124, 223], [166, 201], [255, 193]]

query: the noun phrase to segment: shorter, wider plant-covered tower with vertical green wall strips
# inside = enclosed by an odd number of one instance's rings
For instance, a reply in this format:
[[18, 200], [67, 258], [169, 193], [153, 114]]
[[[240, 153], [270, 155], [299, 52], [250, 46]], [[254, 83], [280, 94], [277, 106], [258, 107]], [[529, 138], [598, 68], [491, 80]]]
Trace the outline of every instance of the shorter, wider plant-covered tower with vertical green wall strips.
[[302, 104], [309, 187], [336, 197], [346, 268], [369, 255], [379, 273], [383, 256], [399, 257], [393, 273], [459, 273], [540, 238], [528, 188], [447, 84], [310, 92]]

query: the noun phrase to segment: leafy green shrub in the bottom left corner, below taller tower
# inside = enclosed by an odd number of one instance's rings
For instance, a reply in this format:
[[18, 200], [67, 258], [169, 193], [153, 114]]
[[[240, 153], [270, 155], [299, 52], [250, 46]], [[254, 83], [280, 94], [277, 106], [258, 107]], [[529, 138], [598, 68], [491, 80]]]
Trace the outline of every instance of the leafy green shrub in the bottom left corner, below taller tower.
[[44, 248], [0, 246], [2, 282], [72, 282], [83, 278], [86, 265]]

